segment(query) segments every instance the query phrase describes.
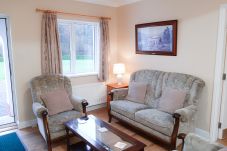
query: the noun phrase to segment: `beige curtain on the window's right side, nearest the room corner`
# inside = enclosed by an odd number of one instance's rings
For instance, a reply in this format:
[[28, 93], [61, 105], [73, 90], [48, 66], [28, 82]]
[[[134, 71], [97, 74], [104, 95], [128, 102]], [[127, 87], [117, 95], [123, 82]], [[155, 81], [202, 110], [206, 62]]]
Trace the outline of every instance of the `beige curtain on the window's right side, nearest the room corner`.
[[101, 18], [100, 20], [100, 70], [98, 79], [100, 81], [106, 81], [109, 73], [109, 23], [108, 19]]

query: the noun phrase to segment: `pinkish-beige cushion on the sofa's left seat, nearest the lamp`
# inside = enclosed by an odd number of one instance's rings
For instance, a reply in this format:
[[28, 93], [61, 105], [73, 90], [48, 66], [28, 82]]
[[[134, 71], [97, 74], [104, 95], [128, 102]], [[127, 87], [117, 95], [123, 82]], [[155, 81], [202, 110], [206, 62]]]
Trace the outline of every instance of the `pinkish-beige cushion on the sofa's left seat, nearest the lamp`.
[[130, 82], [127, 100], [144, 104], [147, 84], [142, 82]]

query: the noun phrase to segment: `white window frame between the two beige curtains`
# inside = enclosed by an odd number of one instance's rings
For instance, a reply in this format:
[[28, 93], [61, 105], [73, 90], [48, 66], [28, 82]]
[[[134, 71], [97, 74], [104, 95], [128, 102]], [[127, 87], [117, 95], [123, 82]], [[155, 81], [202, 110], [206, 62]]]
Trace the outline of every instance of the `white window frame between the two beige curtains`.
[[[58, 25], [59, 24], [66, 24], [70, 25], [70, 56], [71, 56], [71, 64], [70, 64], [70, 73], [63, 73], [64, 75], [68, 77], [80, 77], [80, 76], [91, 76], [91, 75], [98, 75], [99, 73], [99, 58], [100, 58], [100, 23], [98, 21], [80, 21], [80, 20], [66, 20], [66, 19], [58, 19]], [[76, 44], [75, 44], [75, 28], [73, 28], [72, 24], [90, 24], [95, 26], [95, 33], [94, 33], [94, 72], [86, 72], [86, 73], [76, 73], [74, 70], [76, 66]], [[63, 67], [63, 66], [62, 66]]]

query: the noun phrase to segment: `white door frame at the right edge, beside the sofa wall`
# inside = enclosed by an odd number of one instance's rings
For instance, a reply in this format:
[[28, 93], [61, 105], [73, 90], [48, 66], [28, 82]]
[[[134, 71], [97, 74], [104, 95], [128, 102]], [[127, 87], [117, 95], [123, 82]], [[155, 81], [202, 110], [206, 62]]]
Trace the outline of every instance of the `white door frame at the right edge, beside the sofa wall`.
[[223, 80], [226, 56], [226, 27], [227, 27], [227, 4], [220, 6], [219, 24], [217, 37], [216, 64], [214, 73], [213, 101], [210, 122], [210, 141], [215, 142], [219, 138], [218, 123], [221, 115]]

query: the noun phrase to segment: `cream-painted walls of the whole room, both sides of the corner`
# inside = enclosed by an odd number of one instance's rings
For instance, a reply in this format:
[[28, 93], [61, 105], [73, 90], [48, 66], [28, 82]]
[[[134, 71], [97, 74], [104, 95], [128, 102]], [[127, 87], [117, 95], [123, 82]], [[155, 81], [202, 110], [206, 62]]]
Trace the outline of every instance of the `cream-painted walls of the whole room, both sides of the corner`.
[[[143, 0], [120, 8], [71, 0], [0, 0], [0, 13], [10, 17], [19, 120], [32, 120], [31, 78], [40, 75], [41, 14], [35, 8], [112, 17], [111, 64], [126, 63], [127, 79], [138, 69], [192, 74], [206, 82], [197, 127], [209, 131], [214, 79], [218, 9], [226, 0]], [[178, 19], [178, 55], [135, 54], [135, 24]], [[97, 82], [95, 76], [72, 78], [73, 85]]]

